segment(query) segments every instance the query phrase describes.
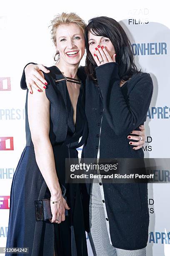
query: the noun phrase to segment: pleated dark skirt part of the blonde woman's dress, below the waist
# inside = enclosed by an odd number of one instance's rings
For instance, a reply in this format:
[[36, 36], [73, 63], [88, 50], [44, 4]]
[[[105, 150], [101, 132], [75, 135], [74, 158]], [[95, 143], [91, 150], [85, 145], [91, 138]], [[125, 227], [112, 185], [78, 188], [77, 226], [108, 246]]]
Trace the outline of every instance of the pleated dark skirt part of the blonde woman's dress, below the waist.
[[[53, 148], [57, 176], [66, 187], [69, 215], [60, 224], [36, 222], [35, 200], [50, 197], [36, 164], [33, 144], [26, 146], [13, 176], [6, 247], [28, 247], [29, 256], [87, 256], [87, 244], [79, 184], [65, 184], [65, 158], [77, 158], [75, 149]], [[25, 254], [5, 254], [6, 256]]]

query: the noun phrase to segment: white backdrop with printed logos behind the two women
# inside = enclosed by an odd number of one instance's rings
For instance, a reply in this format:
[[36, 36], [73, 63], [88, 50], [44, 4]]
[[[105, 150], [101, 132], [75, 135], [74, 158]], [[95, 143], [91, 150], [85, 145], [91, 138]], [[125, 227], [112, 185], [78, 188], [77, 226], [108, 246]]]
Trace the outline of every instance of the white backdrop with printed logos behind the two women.
[[[50, 20], [76, 12], [87, 22], [105, 15], [120, 21], [128, 33], [135, 61], [154, 82], [145, 123], [145, 157], [169, 158], [170, 18], [168, 1], [5, 1], [0, 3], [0, 246], [5, 246], [13, 173], [25, 147], [23, 67], [30, 61], [52, 66], [54, 46]], [[85, 58], [82, 59], [83, 65]], [[79, 151], [80, 152], [80, 151]], [[169, 168], [170, 169], [170, 168]], [[168, 169], [168, 172], [170, 172]], [[162, 174], [163, 170], [158, 173]], [[149, 185], [150, 227], [147, 256], [170, 255], [169, 184]], [[88, 243], [88, 238], [87, 238]], [[92, 252], [88, 243], [89, 255]]]

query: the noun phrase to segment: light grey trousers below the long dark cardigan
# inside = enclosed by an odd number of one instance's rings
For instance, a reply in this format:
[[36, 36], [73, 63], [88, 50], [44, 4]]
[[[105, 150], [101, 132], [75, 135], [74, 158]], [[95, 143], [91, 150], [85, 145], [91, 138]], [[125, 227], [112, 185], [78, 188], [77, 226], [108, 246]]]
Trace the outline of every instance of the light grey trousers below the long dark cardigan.
[[94, 256], [145, 256], [146, 248], [140, 250], [122, 250], [110, 244], [105, 222], [105, 211], [100, 193], [100, 185], [92, 184], [90, 194], [90, 245]]

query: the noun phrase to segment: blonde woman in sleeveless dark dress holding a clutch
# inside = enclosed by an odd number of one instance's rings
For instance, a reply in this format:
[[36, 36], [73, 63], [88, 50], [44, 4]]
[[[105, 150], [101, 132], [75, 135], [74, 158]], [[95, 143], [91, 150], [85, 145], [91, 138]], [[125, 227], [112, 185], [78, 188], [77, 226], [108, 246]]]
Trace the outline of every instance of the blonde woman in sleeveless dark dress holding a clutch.
[[[6, 247], [28, 247], [32, 256], [87, 256], [80, 185], [65, 183], [65, 158], [77, 158], [75, 148], [85, 124], [78, 77], [84, 29], [84, 21], [74, 13], [52, 20], [60, 60], [49, 67], [42, 90], [33, 88], [32, 95], [27, 90], [27, 143], [13, 177]], [[45, 198], [51, 200], [52, 219], [36, 222], [35, 200]]]

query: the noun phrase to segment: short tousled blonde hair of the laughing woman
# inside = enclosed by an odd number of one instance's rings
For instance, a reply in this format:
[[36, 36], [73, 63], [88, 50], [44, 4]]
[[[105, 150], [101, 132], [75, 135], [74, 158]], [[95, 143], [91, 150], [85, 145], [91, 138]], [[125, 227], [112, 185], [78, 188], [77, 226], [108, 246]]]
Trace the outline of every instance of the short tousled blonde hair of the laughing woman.
[[[82, 20], [76, 13], [62, 13], [62, 14], [57, 14], [53, 20], [51, 20], [51, 39], [56, 46], [56, 31], [58, 26], [62, 24], [70, 24], [70, 23], [75, 23], [77, 26], [79, 26], [83, 33], [85, 31], [85, 21]], [[60, 59], [59, 53], [56, 53], [54, 56], [54, 60], [56, 61], [55, 57], [58, 55], [57, 61]]]

